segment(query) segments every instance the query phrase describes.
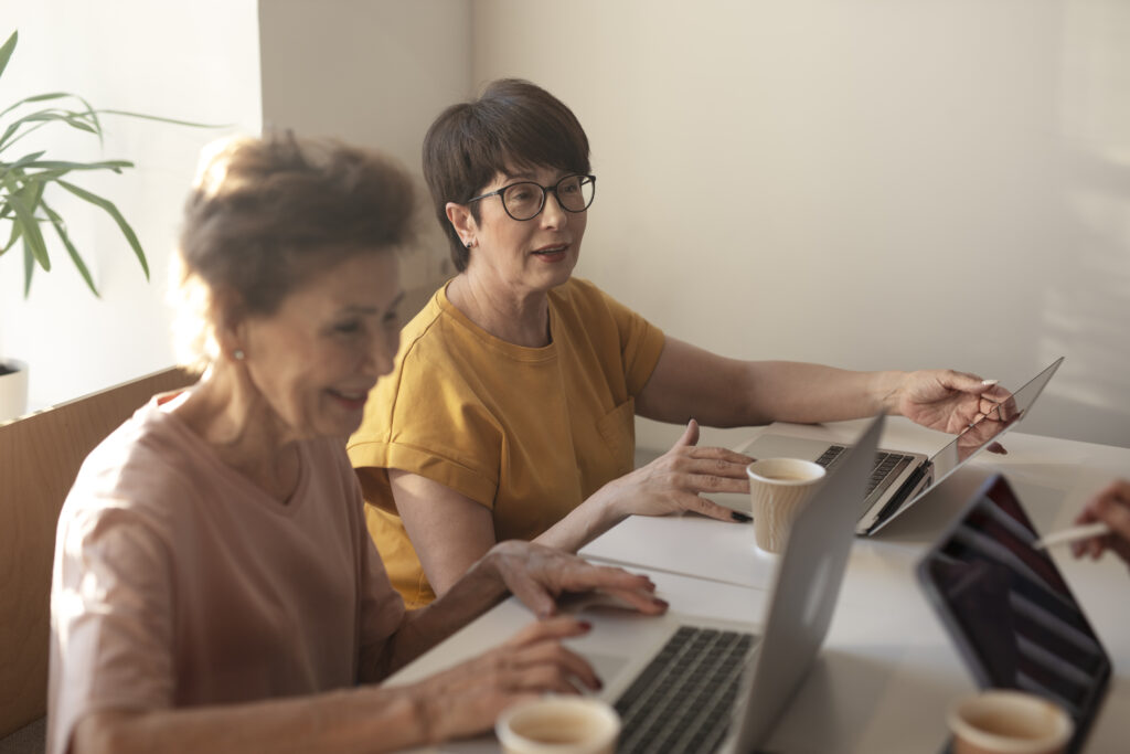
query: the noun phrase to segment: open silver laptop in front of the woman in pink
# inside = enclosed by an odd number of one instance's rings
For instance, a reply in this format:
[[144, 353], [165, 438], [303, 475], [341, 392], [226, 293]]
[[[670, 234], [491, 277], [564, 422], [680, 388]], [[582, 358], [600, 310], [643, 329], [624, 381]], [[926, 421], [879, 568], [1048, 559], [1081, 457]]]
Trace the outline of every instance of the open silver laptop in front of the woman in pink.
[[676, 613], [582, 612], [593, 630], [570, 645], [620, 713], [618, 753], [751, 752], [768, 738], [832, 622], [883, 424], [871, 422], [798, 514], [760, 635]]

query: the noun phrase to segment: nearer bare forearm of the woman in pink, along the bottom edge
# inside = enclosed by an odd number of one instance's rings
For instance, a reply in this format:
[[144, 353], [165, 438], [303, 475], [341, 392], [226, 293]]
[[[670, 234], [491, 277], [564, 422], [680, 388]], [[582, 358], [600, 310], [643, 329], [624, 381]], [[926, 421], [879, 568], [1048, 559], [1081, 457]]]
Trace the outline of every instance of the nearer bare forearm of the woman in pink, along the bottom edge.
[[94, 713], [77, 727], [71, 751], [346, 753], [428, 742], [426, 717], [407, 691], [363, 687], [226, 707]]

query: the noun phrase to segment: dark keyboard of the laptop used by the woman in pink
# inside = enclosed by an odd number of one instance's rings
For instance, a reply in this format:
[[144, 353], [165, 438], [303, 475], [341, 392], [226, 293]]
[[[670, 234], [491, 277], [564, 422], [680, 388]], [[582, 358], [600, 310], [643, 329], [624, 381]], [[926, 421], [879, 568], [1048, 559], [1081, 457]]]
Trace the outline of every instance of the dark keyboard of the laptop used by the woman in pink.
[[616, 702], [618, 754], [711, 752], [725, 738], [757, 636], [681, 626]]

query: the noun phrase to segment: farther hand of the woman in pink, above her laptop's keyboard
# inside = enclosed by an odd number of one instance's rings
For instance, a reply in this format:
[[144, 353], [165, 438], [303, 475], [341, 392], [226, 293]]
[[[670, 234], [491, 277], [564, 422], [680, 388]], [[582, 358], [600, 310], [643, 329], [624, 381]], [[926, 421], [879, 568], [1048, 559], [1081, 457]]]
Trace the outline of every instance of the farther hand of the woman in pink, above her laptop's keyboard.
[[667, 610], [667, 603], [655, 597], [655, 584], [647, 577], [592, 565], [553, 547], [507, 540], [492, 547], [487, 557], [506, 588], [540, 618], [557, 612], [558, 597], [593, 590], [611, 595], [645, 615]]

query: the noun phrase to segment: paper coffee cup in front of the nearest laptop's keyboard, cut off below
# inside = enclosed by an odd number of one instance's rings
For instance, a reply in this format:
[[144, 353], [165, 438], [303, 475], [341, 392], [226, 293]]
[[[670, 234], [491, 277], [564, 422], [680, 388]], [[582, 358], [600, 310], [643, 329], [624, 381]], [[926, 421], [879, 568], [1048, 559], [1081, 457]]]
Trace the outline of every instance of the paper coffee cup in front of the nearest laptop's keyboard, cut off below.
[[620, 717], [585, 696], [542, 696], [498, 716], [495, 734], [506, 754], [614, 754]]

